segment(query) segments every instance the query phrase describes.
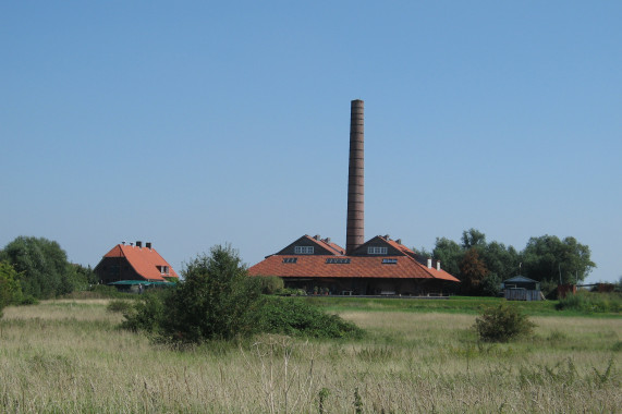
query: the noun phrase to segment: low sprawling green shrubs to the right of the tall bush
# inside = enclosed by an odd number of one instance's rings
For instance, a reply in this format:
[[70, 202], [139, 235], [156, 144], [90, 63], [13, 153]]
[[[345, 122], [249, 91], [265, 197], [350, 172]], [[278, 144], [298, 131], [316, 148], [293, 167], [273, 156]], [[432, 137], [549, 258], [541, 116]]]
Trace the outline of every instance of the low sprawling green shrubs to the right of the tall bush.
[[268, 297], [261, 307], [261, 330], [307, 338], [359, 338], [363, 330], [302, 300]]

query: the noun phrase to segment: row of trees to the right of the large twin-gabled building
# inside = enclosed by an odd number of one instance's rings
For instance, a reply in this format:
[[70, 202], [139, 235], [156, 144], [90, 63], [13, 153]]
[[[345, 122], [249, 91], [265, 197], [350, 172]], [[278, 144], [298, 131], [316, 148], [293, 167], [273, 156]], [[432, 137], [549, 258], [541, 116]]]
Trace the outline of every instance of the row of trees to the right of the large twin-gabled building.
[[556, 235], [530, 238], [521, 252], [503, 243], [486, 241], [486, 235], [469, 229], [462, 232], [460, 243], [437, 238], [431, 252], [422, 256], [440, 260], [442, 268], [461, 280], [463, 294], [496, 295], [503, 280], [524, 276], [540, 282], [545, 293], [559, 283], [583, 281], [596, 267], [589, 247], [575, 238]]

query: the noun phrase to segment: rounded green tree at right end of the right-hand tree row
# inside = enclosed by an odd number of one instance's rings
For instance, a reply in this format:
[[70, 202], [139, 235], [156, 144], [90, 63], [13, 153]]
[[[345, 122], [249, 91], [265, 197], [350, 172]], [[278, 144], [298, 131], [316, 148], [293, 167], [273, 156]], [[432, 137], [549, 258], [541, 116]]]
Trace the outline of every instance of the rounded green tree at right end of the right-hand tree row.
[[596, 267], [587, 245], [574, 238], [554, 235], [532, 238], [523, 251], [525, 276], [549, 283], [583, 281]]

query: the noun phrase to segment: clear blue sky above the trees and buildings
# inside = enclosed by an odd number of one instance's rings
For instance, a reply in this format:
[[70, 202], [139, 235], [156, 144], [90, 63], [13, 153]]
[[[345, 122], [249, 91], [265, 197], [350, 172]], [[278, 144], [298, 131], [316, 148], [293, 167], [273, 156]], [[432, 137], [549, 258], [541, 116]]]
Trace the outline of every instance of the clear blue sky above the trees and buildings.
[[622, 276], [622, 1], [0, 2], [0, 246], [181, 270], [345, 244], [350, 101], [365, 239], [572, 235]]

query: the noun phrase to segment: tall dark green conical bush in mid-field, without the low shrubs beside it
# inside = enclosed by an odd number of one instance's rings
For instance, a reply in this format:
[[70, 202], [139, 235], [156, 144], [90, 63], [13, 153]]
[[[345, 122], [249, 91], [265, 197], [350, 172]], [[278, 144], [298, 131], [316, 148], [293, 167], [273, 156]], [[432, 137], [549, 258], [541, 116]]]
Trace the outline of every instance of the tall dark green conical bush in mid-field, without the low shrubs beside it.
[[164, 297], [161, 333], [181, 342], [230, 340], [258, 328], [260, 284], [237, 252], [217, 245], [182, 271], [184, 281]]

